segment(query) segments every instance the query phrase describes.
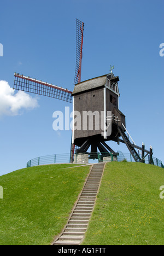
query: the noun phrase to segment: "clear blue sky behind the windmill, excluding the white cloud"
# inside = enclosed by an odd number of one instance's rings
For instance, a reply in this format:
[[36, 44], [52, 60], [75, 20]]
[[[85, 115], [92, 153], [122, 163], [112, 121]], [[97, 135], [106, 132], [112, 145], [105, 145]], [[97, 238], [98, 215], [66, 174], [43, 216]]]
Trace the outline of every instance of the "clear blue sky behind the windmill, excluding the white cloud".
[[[18, 72], [73, 90], [75, 19], [84, 21], [81, 80], [109, 73], [114, 65], [127, 130], [136, 144], [153, 146], [154, 156], [164, 162], [163, 9], [163, 0], [3, 0], [0, 80], [12, 88]], [[31, 96], [38, 106], [22, 106], [15, 115], [1, 113], [0, 102], [0, 175], [37, 156], [69, 153], [71, 131], [54, 131], [52, 114], [72, 105]], [[128, 152], [124, 145], [110, 146]]]

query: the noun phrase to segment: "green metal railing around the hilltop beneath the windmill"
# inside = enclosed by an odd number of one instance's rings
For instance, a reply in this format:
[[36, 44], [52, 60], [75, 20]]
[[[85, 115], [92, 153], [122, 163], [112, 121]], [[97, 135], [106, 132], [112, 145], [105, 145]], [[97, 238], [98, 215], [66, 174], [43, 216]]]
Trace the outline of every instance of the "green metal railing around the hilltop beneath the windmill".
[[[78, 153], [74, 154], [74, 163], [78, 164], [77, 161]], [[135, 162], [133, 156], [130, 153], [122, 153], [118, 151], [117, 153], [92, 153], [92, 159], [89, 156], [89, 163], [91, 162], [113, 162], [113, 161], [127, 161], [127, 162]], [[162, 161], [154, 158], [154, 165], [164, 168]], [[27, 167], [39, 166], [39, 165], [50, 165], [50, 164], [67, 164], [70, 162], [70, 154], [55, 154], [55, 155], [46, 155], [39, 156], [38, 158], [34, 158], [27, 162]], [[144, 159], [145, 164], [150, 164], [149, 155]]]

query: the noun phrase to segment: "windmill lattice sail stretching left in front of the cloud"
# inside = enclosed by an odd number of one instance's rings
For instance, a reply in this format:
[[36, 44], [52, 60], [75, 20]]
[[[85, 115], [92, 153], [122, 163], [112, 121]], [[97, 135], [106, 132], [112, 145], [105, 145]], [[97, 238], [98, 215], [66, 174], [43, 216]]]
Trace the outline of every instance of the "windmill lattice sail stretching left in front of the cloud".
[[14, 89], [72, 103], [72, 91], [15, 73]]

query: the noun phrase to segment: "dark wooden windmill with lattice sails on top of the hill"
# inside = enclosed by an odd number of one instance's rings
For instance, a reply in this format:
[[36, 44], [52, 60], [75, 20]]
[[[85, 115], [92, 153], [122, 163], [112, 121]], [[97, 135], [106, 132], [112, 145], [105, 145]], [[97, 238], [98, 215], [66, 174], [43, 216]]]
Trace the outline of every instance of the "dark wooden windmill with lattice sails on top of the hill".
[[[130, 135], [126, 130], [125, 115], [119, 110], [119, 77], [115, 77], [113, 74], [112, 70], [114, 66], [110, 66], [109, 74], [81, 82], [84, 22], [76, 19], [76, 26], [77, 54], [73, 92], [57, 85], [42, 82], [42, 80], [26, 77], [19, 73], [15, 73], [14, 75], [14, 89], [73, 103], [70, 162], [73, 162], [74, 159], [75, 146], [78, 146], [76, 150], [77, 154], [88, 155], [90, 159], [98, 158], [98, 150], [101, 153], [101, 160], [104, 157], [108, 158], [111, 153], [116, 156], [118, 153], [114, 152], [106, 143], [107, 141], [115, 141], [118, 144], [120, 142], [125, 143], [136, 162], [144, 162], [145, 157], [150, 154], [149, 162], [150, 164], [154, 164], [152, 147], [150, 147], [150, 150], [146, 150], [144, 144], [142, 147], [139, 147], [134, 142], [130, 142]], [[78, 112], [80, 115], [83, 115], [84, 112], [88, 111], [92, 113], [96, 112], [98, 118], [101, 117], [103, 119], [103, 129], [99, 127], [99, 129], [90, 130], [89, 124], [86, 124], [86, 129], [75, 129], [75, 113]], [[108, 115], [108, 112], [110, 112], [110, 115]], [[101, 113], [103, 113], [103, 117]], [[81, 125], [83, 126], [84, 123], [87, 123], [87, 121], [82, 120]], [[92, 119], [92, 123], [95, 126], [96, 119]], [[91, 152], [88, 152], [89, 148], [91, 148]], [[137, 153], [136, 149], [142, 151], [142, 156]], [[145, 153], [147, 154], [145, 155]]]

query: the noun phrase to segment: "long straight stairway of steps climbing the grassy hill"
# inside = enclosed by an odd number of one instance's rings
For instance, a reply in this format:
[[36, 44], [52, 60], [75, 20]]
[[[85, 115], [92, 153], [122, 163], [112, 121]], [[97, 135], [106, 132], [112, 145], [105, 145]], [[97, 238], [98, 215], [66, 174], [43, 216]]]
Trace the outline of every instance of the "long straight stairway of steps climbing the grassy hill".
[[95, 205], [104, 165], [104, 163], [99, 163], [92, 166], [65, 230], [52, 245], [80, 245], [83, 241]]

